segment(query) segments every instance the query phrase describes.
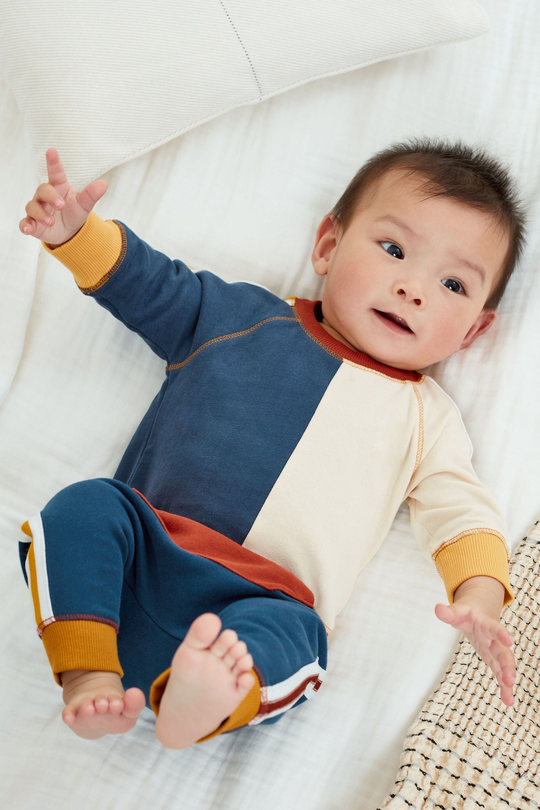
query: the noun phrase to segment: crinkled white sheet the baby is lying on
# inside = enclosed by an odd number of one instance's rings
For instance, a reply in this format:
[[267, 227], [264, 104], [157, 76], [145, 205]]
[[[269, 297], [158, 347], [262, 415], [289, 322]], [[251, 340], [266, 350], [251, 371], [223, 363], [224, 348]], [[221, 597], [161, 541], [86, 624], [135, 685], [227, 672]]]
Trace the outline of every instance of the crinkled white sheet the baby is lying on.
[[[433, 134], [482, 141], [508, 160], [530, 207], [525, 257], [491, 330], [426, 370], [461, 410], [513, 550], [540, 516], [540, 6], [483, 6], [486, 36], [232, 110], [114, 168], [96, 212], [227, 280], [315, 297], [317, 224], [373, 151]], [[113, 475], [164, 361], [19, 232], [36, 167], [5, 83], [0, 94], [2, 807], [375, 810], [459, 638], [436, 619], [444, 585], [415, 544], [406, 504], [338, 616], [324, 688], [279, 723], [178, 752], [155, 740], [149, 710], [127, 735], [96, 742], [62, 723], [19, 526], [67, 484]]]

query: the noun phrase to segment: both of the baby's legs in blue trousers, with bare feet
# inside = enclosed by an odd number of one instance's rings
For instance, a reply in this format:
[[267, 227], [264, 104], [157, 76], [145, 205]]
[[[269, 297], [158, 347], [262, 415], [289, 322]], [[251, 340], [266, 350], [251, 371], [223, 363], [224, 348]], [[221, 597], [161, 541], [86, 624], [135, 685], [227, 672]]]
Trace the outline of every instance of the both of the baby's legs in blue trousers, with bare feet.
[[58, 492], [23, 524], [32, 539], [19, 545], [23, 572], [64, 686], [65, 722], [90, 738], [122, 733], [146, 697], [169, 748], [274, 723], [321, 684], [321, 619], [245, 577], [250, 566], [256, 577], [271, 568], [264, 558], [246, 552], [246, 566], [232, 540], [159, 515], [127, 484], [93, 479]]

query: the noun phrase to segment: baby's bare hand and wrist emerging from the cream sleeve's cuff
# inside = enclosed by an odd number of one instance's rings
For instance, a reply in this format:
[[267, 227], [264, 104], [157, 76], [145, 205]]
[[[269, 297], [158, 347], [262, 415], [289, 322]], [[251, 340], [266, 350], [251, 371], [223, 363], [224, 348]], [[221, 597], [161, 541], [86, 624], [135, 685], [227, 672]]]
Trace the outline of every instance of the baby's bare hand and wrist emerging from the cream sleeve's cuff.
[[500, 685], [500, 699], [512, 706], [516, 662], [513, 639], [500, 622], [505, 588], [493, 577], [471, 577], [455, 590], [452, 605], [436, 604], [438, 619], [465, 633]]

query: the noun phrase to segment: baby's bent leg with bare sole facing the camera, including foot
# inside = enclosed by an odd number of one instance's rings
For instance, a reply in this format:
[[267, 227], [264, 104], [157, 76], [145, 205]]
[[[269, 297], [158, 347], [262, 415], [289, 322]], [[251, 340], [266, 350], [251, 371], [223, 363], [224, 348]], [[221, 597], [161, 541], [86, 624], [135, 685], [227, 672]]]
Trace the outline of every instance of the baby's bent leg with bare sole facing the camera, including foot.
[[220, 616], [198, 616], [163, 673], [158, 740], [187, 748], [248, 723], [274, 723], [317, 691], [326, 652], [321, 619], [295, 599], [238, 599]]

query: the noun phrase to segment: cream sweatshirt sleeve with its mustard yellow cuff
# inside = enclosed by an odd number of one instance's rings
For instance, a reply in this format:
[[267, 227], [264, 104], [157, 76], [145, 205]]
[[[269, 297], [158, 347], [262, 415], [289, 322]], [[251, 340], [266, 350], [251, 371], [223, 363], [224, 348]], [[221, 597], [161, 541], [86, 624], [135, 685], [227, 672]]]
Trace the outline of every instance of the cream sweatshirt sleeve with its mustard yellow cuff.
[[485, 576], [504, 585], [506, 606], [515, 598], [508, 576], [508, 528], [474, 472], [472, 445], [457, 406], [450, 399], [443, 404], [438, 418], [424, 425], [424, 452], [407, 488], [411, 527], [424, 555], [435, 562], [450, 604], [461, 582]]

